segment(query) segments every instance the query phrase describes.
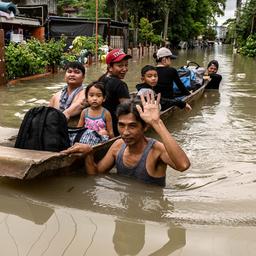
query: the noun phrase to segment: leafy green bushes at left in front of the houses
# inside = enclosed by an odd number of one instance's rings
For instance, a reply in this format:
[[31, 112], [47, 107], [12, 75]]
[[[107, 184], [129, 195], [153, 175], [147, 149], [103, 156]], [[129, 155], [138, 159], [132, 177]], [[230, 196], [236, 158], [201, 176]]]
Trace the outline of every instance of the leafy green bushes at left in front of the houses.
[[[5, 65], [7, 79], [42, 74], [62, 67], [66, 62], [78, 60], [81, 51], [87, 49], [92, 55], [95, 53], [95, 36], [76, 37], [72, 43], [73, 48], [66, 51], [65, 37], [60, 40], [51, 39], [41, 42], [35, 38], [24, 43], [9, 43], [5, 47]], [[104, 44], [99, 36], [99, 47]], [[99, 50], [99, 53], [101, 51]]]

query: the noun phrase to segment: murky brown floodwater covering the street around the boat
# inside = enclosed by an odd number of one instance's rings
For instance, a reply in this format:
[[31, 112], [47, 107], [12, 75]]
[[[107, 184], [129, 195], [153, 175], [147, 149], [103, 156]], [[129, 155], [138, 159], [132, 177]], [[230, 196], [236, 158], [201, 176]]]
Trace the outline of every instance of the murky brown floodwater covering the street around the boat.
[[[115, 173], [0, 179], [1, 255], [255, 255], [256, 60], [221, 45], [178, 55], [175, 67], [217, 59], [223, 76], [219, 92], [168, 122], [190, 169], [168, 170], [164, 189]], [[148, 63], [130, 61], [131, 90]], [[89, 67], [85, 83], [105, 68]], [[18, 128], [63, 85], [59, 73], [1, 87], [0, 126]]]

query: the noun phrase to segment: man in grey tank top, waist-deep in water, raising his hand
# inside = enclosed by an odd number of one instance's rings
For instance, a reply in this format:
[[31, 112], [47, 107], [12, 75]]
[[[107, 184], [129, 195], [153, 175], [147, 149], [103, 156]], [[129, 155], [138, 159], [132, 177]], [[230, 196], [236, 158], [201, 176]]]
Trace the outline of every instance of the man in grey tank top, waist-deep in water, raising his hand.
[[[117, 173], [144, 183], [165, 186], [167, 165], [183, 172], [190, 166], [189, 159], [160, 119], [160, 94], [141, 96], [141, 105], [136, 101], [122, 103], [117, 108], [118, 131], [116, 140], [104, 158], [97, 164], [92, 148], [86, 144], [75, 144], [64, 153], [81, 152], [85, 157], [88, 174], [109, 172], [116, 165]], [[150, 125], [162, 142], [147, 138], [144, 132]]]

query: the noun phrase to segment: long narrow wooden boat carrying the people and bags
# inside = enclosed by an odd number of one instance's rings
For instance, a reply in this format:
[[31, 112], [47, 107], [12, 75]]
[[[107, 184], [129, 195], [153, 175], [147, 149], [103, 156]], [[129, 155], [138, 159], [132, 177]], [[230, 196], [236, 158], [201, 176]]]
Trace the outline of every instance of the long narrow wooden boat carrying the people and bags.
[[[206, 84], [201, 86], [183, 100], [193, 102], [200, 98]], [[170, 107], [161, 113], [161, 119], [166, 121], [177, 107]], [[18, 130], [13, 132], [17, 134]], [[115, 137], [103, 144], [94, 146], [96, 160], [101, 159], [113, 142]], [[82, 154], [65, 155], [63, 153], [36, 151], [14, 148], [14, 136], [0, 140], [0, 177], [15, 178], [21, 180], [33, 179], [38, 176], [63, 174], [75, 171], [83, 166]]]

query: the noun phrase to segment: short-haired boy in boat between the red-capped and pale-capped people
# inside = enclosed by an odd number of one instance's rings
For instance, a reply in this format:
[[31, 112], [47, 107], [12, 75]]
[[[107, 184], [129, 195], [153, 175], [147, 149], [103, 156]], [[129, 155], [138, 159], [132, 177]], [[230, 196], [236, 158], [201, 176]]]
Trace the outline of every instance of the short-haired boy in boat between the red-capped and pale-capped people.
[[[158, 82], [158, 74], [157, 74], [157, 68], [151, 65], [146, 65], [141, 69], [141, 81], [142, 83], [136, 85], [136, 89], [138, 90], [137, 96], [140, 95], [146, 95], [147, 93], [154, 93], [154, 88], [157, 85]], [[162, 110], [165, 110], [166, 108], [177, 106], [180, 109], [184, 109], [186, 111], [191, 111], [191, 106], [186, 103], [185, 101], [182, 101], [180, 99], [164, 99], [161, 98], [160, 104], [164, 105], [164, 108]]]

